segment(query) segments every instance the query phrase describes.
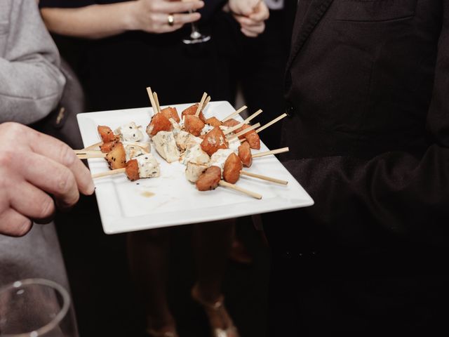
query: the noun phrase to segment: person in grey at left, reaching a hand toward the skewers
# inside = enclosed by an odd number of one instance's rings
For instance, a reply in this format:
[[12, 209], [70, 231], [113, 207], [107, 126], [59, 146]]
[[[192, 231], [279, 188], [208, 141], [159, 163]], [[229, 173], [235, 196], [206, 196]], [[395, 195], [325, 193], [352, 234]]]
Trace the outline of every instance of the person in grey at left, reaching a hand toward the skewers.
[[69, 290], [58, 237], [49, 222], [55, 204], [67, 209], [80, 192], [93, 193], [91, 174], [67, 145], [8, 122], [31, 124], [53, 110], [65, 85], [59, 65], [36, 1], [1, 1], [0, 286], [39, 277]]

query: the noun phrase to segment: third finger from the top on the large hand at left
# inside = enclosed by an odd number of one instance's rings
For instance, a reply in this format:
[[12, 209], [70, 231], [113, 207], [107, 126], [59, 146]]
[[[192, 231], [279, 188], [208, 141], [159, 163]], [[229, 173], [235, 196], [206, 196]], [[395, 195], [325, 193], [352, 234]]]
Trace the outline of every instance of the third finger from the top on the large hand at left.
[[26, 181], [16, 186], [15, 192], [10, 194], [9, 199], [15, 211], [27, 218], [36, 219], [39, 223], [50, 222], [55, 213], [53, 199]]

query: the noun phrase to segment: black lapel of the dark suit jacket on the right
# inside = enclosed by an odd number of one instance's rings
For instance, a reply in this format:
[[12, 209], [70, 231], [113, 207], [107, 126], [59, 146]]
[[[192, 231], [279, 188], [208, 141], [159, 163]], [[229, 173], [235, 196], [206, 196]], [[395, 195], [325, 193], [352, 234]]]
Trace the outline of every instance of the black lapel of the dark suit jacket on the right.
[[[307, 8], [307, 4], [304, 5], [305, 1], [309, 3], [311, 1], [309, 8]], [[333, 0], [300, 0], [297, 8], [295, 26], [293, 27], [293, 41], [290, 57], [287, 62], [287, 70], [332, 2]], [[301, 13], [301, 11], [306, 10], [307, 13], [305, 15]]]

